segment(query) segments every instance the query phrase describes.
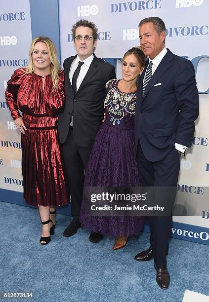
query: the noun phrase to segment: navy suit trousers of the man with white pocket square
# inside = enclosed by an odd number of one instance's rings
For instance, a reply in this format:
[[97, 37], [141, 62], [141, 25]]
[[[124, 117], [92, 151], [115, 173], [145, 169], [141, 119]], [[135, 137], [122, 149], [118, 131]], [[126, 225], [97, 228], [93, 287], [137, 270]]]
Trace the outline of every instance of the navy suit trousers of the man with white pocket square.
[[[140, 143], [137, 148], [139, 175], [144, 187], [173, 187], [169, 204], [173, 205], [178, 182], [180, 155], [173, 149], [160, 161], [151, 162], [146, 159]], [[155, 203], [158, 203], [155, 196]], [[166, 268], [168, 239], [171, 231], [172, 216], [148, 217], [150, 225], [150, 244], [154, 251], [154, 260], [158, 268]]]

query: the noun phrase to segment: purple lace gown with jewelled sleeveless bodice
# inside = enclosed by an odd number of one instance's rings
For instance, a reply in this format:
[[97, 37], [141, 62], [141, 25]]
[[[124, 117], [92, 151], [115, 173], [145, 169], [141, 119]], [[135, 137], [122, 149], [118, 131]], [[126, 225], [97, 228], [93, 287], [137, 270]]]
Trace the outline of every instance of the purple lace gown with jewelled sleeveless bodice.
[[[85, 187], [141, 186], [134, 146], [134, 113], [136, 92], [118, 89], [119, 80], [106, 84], [104, 102], [106, 119], [96, 136], [88, 161]], [[138, 234], [144, 226], [143, 217], [89, 217], [85, 213], [83, 197], [80, 221], [93, 233], [115, 236]]]

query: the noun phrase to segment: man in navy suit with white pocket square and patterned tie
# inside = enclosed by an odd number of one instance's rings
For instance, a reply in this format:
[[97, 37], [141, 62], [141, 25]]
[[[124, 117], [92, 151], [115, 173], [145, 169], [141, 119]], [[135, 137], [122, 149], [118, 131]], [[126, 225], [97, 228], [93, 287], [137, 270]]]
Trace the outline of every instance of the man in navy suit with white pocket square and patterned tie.
[[[174, 188], [170, 200], [165, 200], [172, 206], [180, 154], [192, 145], [199, 113], [195, 72], [189, 60], [165, 48], [166, 27], [160, 18], [142, 20], [139, 38], [148, 56], [137, 89], [135, 146], [139, 173], [144, 187]], [[158, 198], [155, 195], [156, 205]], [[171, 216], [149, 217], [150, 247], [135, 256], [137, 261], [154, 258], [156, 281], [163, 289], [170, 282], [167, 254], [171, 223]]]

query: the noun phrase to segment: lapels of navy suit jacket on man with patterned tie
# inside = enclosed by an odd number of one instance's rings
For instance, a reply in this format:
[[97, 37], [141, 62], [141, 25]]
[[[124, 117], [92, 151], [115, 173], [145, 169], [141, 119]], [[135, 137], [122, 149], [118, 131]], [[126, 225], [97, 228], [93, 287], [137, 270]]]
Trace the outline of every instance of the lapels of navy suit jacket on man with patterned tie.
[[[172, 52], [169, 49], [167, 49], [166, 55], [163, 57], [161, 63], [159, 64], [158, 68], [156, 69], [154, 75], [151, 77], [149, 83], [147, 84], [142, 101], [145, 98], [145, 96], [148, 94], [150, 89], [157, 82], [159, 77], [161, 77], [167, 71], [167, 69], [170, 68], [170, 66], [171, 66], [170, 61], [172, 60], [172, 58], [173, 58]], [[142, 85], [143, 85], [143, 79], [142, 79]], [[141, 89], [141, 92], [142, 92], [142, 89]]]

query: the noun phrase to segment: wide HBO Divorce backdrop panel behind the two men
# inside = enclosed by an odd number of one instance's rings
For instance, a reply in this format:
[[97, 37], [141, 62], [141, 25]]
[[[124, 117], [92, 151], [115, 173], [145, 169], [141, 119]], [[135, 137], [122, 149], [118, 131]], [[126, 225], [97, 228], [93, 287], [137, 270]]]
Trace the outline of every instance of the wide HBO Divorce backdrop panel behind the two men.
[[[207, 0], [116, 0], [59, 1], [61, 61], [74, 55], [71, 26], [84, 18], [98, 27], [95, 54], [114, 64], [121, 77], [125, 51], [140, 44], [138, 24], [149, 16], [158, 16], [166, 24], [166, 47], [191, 60], [197, 78], [200, 116], [196, 121], [193, 146], [181, 158], [181, 170], [173, 221], [209, 227], [209, 1]], [[180, 215], [180, 216], [179, 216]], [[184, 217], [182, 217], [184, 215]], [[185, 216], [186, 215], [186, 216]], [[179, 224], [178, 224], [179, 226]], [[173, 228], [173, 234], [208, 241], [208, 233]]]

